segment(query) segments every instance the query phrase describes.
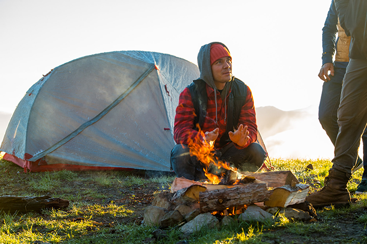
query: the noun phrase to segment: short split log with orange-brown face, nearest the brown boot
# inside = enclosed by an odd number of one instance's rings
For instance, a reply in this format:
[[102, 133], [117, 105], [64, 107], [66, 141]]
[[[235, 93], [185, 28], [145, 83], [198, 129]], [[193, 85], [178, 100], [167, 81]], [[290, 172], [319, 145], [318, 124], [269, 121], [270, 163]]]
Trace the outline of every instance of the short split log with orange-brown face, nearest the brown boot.
[[272, 191], [268, 201], [264, 204], [269, 207], [286, 207], [288, 205], [301, 203], [305, 201], [309, 186], [306, 184], [297, 184], [294, 187], [290, 185], [275, 188]]

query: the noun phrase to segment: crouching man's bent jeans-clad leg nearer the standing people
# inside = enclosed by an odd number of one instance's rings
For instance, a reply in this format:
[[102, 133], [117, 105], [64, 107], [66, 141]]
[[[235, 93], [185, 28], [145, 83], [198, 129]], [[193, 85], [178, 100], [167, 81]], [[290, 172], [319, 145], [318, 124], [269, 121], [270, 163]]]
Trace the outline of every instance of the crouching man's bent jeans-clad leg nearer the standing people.
[[217, 156], [220, 160], [225, 160], [229, 164], [233, 164], [240, 171], [255, 172], [263, 166], [266, 159], [266, 152], [256, 142], [251, 143], [244, 149], [237, 149], [231, 142], [220, 149]]

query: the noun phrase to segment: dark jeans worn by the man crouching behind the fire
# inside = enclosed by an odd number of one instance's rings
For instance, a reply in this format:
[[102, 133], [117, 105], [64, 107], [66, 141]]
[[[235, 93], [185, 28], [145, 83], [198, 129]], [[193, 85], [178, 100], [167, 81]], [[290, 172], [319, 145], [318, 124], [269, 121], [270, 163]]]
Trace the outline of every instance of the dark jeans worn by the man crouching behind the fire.
[[[241, 171], [254, 172], [258, 170], [266, 158], [263, 147], [258, 143], [251, 143], [247, 148], [237, 149], [233, 143], [229, 143], [215, 153], [219, 160], [227, 161], [230, 165]], [[198, 159], [190, 156], [187, 145], [177, 144], [171, 151], [171, 165], [177, 177], [185, 177], [191, 180], [205, 179], [204, 165]]]

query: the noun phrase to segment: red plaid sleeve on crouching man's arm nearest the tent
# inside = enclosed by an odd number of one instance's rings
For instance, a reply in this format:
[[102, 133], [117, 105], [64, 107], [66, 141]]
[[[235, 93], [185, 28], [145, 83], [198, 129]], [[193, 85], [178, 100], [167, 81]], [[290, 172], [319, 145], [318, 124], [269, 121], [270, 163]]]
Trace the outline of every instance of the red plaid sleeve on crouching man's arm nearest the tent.
[[[185, 88], [179, 96], [173, 128], [173, 139], [177, 144], [189, 144], [199, 134], [194, 127], [195, 108], [189, 88]], [[202, 141], [202, 138], [200, 138]]]

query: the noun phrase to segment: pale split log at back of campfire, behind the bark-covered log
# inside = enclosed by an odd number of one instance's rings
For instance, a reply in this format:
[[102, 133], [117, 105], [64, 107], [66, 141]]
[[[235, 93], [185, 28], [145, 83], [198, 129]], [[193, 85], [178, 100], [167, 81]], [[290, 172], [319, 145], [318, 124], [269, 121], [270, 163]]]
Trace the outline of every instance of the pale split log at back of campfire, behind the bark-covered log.
[[299, 183], [297, 177], [289, 170], [286, 171], [271, 171], [271, 172], [259, 172], [249, 173], [244, 172], [247, 176], [253, 176], [258, 180], [262, 180], [268, 183], [268, 187], [281, 187], [284, 185], [295, 186]]

